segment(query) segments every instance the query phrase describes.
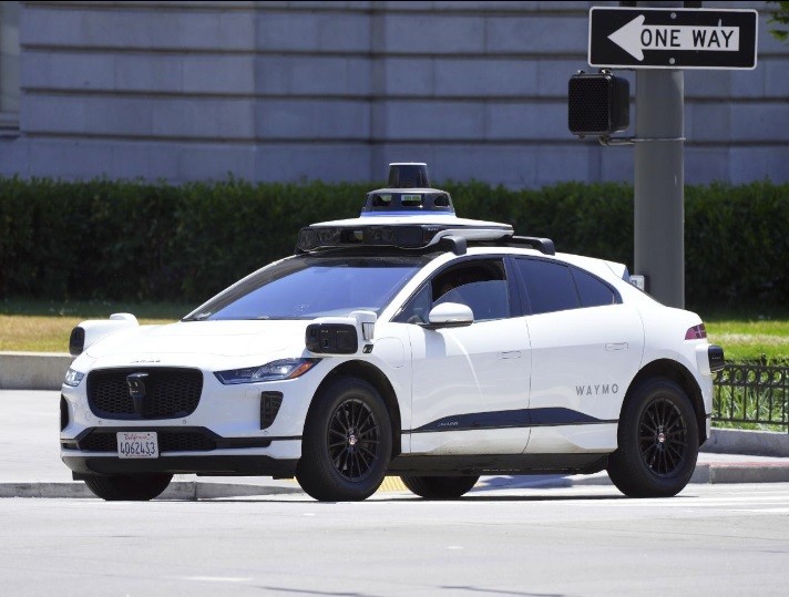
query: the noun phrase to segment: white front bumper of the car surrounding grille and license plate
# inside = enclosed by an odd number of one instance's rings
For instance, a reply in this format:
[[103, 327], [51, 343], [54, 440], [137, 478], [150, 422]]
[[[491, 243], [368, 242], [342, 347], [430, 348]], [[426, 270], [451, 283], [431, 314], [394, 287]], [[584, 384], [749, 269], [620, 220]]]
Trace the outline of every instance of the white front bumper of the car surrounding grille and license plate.
[[[153, 378], [165, 368], [141, 366], [140, 370]], [[61, 460], [78, 475], [293, 476], [301, 456], [306, 411], [321, 379], [311, 373], [288, 381], [223, 385], [211, 371], [202, 370], [196, 408], [167, 419], [147, 413], [114, 416], [114, 411], [92, 406], [88, 378], [76, 388], [63, 385]], [[267, 409], [268, 394], [279, 397], [274, 412]], [[158, 457], [119, 457], [119, 432], [156, 432]]]

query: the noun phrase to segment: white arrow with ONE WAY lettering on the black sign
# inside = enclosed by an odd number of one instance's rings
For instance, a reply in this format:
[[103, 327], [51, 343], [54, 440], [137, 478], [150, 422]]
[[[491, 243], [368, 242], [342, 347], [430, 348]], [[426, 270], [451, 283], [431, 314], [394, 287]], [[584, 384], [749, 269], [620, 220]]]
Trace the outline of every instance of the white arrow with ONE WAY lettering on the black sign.
[[644, 24], [639, 14], [608, 39], [638, 61], [644, 50], [739, 51], [739, 27]]

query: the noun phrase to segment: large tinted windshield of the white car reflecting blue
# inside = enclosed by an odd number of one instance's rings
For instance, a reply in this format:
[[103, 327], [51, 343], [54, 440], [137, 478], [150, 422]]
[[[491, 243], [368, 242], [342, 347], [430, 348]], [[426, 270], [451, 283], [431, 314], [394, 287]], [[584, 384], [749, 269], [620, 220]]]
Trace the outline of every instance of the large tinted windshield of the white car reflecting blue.
[[429, 260], [406, 257], [296, 257], [262, 269], [184, 321], [314, 319], [357, 309], [380, 313]]

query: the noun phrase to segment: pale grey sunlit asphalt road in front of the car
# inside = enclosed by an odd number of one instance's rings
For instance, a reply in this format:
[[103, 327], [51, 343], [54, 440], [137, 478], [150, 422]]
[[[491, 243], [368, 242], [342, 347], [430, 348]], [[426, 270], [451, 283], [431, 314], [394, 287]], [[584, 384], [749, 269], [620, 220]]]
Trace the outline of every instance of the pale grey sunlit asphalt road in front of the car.
[[4, 595], [786, 595], [789, 484], [0, 501]]

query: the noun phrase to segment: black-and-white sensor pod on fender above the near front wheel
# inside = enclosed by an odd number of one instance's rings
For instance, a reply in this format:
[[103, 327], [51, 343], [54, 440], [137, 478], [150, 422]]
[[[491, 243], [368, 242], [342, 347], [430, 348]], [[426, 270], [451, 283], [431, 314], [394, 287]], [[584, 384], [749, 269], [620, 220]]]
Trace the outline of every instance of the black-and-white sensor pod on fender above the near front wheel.
[[321, 317], [307, 326], [305, 346], [316, 354], [356, 354], [370, 347], [378, 316], [353, 311], [348, 317]]

